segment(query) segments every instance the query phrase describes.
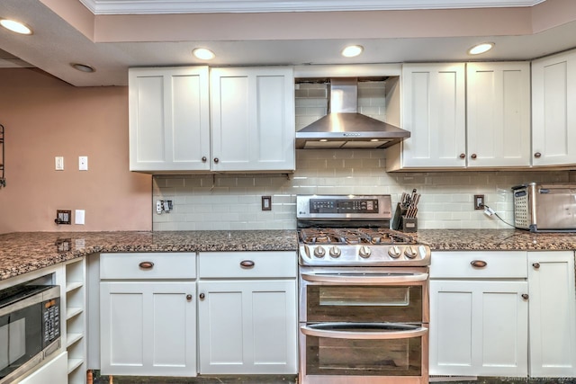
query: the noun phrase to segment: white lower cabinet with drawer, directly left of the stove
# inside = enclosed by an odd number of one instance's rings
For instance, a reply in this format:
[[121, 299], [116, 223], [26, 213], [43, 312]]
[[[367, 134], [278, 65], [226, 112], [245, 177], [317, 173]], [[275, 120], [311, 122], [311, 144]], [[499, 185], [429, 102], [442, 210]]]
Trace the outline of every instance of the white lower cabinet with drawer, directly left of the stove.
[[295, 374], [293, 252], [200, 254], [201, 374]]

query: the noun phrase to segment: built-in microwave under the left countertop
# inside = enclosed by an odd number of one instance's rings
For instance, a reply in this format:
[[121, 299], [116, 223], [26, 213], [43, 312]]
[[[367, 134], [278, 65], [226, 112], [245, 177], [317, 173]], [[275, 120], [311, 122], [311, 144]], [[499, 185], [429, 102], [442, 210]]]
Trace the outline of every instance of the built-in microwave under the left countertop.
[[60, 348], [60, 288], [21, 284], [0, 291], [0, 384], [20, 378]]

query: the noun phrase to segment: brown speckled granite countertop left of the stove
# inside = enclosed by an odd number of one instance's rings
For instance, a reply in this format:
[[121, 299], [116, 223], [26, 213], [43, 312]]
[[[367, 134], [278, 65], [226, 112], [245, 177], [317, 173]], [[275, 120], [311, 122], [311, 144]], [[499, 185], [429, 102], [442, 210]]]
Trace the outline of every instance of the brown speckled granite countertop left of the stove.
[[[16, 232], [0, 235], [0, 281], [101, 252], [296, 251], [295, 230]], [[294, 254], [295, 255], [295, 254]]]

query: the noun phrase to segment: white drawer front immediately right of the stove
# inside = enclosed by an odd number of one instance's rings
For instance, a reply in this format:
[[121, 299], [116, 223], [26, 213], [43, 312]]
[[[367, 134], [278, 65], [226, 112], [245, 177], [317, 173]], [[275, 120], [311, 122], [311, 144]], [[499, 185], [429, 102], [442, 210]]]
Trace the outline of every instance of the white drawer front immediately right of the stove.
[[[474, 263], [476, 266], [473, 265]], [[524, 251], [432, 252], [430, 278], [524, 279], [527, 278], [527, 253]]]

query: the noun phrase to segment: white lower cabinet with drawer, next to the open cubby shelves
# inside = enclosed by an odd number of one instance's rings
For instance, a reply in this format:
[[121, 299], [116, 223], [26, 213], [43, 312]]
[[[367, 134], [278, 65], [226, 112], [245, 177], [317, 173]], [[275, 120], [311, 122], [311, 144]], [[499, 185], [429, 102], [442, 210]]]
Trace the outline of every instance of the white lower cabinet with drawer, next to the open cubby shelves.
[[100, 258], [101, 371], [196, 376], [194, 254]]

